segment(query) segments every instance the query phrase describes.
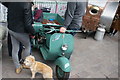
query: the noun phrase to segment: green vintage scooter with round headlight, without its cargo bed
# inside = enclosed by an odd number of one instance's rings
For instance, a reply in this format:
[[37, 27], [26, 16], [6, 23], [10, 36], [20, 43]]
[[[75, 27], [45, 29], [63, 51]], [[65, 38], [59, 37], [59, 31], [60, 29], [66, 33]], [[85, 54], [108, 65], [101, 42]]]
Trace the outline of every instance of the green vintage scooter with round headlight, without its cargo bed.
[[69, 59], [74, 49], [74, 37], [69, 33], [75, 31], [66, 30], [67, 33], [60, 33], [60, 27], [34, 23], [36, 35], [31, 43], [40, 50], [45, 60], [55, 62], [57, 78], [67, 80], [71, 71]]

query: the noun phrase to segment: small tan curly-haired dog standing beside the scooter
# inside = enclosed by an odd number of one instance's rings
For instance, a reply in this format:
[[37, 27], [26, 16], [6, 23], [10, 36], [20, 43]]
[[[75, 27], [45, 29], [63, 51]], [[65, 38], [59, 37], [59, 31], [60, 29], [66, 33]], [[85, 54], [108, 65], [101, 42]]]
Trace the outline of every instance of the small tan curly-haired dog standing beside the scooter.
[[35, 78], [35, 74], [41, 73], [43, 74], [43, 78], [46, 79], [53, 79], [53, 70], [51, 67], [47, 66], [44, 63], [35, 61], [35, 57], [34, 56], [28, 56], [26, 57], [24, 64], [28, 67], [30, 67], [30, 70], [32, 72], [32, 78]]

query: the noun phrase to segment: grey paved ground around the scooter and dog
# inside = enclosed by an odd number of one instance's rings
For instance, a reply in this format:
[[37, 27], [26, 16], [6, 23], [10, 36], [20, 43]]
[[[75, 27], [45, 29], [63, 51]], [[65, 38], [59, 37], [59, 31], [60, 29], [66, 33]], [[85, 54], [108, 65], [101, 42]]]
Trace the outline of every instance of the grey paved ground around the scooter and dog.
[[[75, 36], [75, 49], [70, 63], [72, 71], [70, 78], [117, 78], [118, 77], [118, 37], [105, 36], [103, 41], [96, 41], [92, 37], [83, 39]], [[36, 60], [51, 66], [55, 71], [53, 61], [44, 61], [38, 50], [33, 49]], [[6, 40], [3, 42], [2, 51], [2, 77], [3, 78], [30, 78], [30, 70], [23, 70], [15, 74], [12, 59], [8, 56]], [[0, 63], [1, 64], [1, 63]], [[41, 78], [41, 74], [36, 75]], [[54, 72], [54, 77], [55, 72]]]

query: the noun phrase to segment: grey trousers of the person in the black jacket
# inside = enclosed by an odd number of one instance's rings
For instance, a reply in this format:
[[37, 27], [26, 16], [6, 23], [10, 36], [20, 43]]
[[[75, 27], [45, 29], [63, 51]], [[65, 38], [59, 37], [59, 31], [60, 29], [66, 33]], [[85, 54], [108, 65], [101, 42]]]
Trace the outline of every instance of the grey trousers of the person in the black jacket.
[[30, 55], [31, 44], [29, 39], [29, 34], [27, 33], [16, 33], [9, 30], [11, 41], [12, 41], [12, 59], [16, 68], [20, 67], [18, 51], [20, 47], [20, 42], [24, 45], [25, 50], [23, 52], [23, 59]]

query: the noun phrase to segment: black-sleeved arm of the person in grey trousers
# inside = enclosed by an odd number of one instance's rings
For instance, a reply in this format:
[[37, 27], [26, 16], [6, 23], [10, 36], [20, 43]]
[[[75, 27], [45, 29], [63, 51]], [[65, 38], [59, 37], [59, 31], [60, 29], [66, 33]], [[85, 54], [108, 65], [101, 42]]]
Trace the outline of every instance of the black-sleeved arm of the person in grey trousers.
[[32, 19], [32, 10], [31, 10], [31, 3], [25, 3], [24, 7], [24, 23], [25, 29], [28, 33], [34, 34], [35, 30], [32, 26], [33, 19]]

